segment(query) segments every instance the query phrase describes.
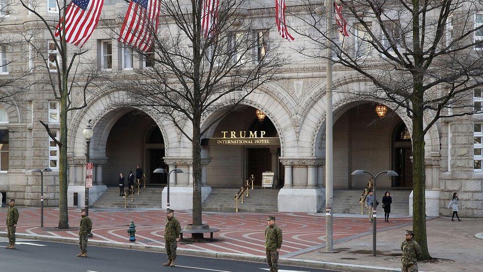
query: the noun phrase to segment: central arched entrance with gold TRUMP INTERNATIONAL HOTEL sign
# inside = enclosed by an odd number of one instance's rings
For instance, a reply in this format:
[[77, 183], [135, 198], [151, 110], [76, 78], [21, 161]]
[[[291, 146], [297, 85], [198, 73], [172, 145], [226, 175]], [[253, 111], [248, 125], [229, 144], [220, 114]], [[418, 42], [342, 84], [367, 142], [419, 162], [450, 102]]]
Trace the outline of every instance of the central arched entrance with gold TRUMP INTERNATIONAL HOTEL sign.
[[209, 186], [240, 186], [254, 175], [254, 186], [262, 185], [262, 173], [274, 172], [275, 187], [284, 185], [279, 162], [280, 139], [268, 116], [259, 121], [256, 109], [240, 106], [228, 113], [213, 129], [211, 138], [203, 140], [204, 152], [211, 163], [206, 166]]

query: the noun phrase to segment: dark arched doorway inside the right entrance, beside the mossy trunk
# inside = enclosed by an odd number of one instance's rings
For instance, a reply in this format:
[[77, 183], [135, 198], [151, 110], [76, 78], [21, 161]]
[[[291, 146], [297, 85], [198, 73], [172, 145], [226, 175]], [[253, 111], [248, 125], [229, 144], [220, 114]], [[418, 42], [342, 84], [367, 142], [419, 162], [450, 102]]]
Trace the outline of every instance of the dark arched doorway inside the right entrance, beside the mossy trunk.
[[413, 163], [411, 161], [411, 135], [401, 122], [394, 133], [394, 169], [399, 176], [394, 179], [395, 187], [413, 187]]

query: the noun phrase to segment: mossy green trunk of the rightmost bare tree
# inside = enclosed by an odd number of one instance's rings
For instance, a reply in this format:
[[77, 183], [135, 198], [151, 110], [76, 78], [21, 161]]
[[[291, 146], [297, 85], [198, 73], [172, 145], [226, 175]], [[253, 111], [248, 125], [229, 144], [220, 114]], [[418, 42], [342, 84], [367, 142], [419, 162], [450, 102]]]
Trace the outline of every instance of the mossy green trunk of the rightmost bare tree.
[[[414, 105], [414, 104], [413, 104]], [[420, 260], [431, 259], [428, 251], [428, 239], [426, 236], [426, 174], [424, 163], [424, 134], [423, 134], [423, 109], [413, 106], [415, 114], [412, 117], [413, 135], [413, 230], [414, 239], [421, 246], [423, 254]]]

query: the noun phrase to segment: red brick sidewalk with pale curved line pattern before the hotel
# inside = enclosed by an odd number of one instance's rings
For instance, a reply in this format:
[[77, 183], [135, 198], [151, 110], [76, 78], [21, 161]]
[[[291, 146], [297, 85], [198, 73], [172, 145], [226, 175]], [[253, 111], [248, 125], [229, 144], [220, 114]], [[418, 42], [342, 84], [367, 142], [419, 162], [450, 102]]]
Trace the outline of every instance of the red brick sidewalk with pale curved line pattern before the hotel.
[[[6, 208], [0, 208], [0, 218], [5, 218]], [[61, 231], [52, 229], [58, 223], [58, 209], [46, 208], [44, 225], [40, 228], [39, 208], [19, 208], [20, 218], [17, 233], [40, 234], [54, 237], [78, 237], [79, 209], [69, 209], [69, 224], [73, 229]], [[264, 230], [269, 214], [220, 214], [203, 213], [203, 222], [220, 229], [213, 235], [212, 243], [191, 244], [189, 240], [180, 243], [180, 248], [218, 251], [226, 253], [252, 254], [265, 256]], [[325, 217], [306, 213], [270, 213], [277, 218], [277, 225], [284, 232], [281, 257], [299, 258], [300, 254], [325, 247]], [[177, 212], [182, 227], [191, 223], [191, 213]], [[90, 211], [93, 220], [94, 238], [99, 241], [127, 242], [127, 229], [131, 220], [136, 227], [136, 242], [140, 245], [163, 246], [166, 214], [163, 211], [119, 211], [100, 209]], [[3, 220], [2, 220], [3, 221]], [[411, 223], [411, 218], [394, 218], [389, 223], [382, 220], [378, 230], [398, 228]], [[3, 230], [5, 224], [0, 224]], [[334, 240], [343, 242], [365, 236], [372, 231], [372, 223], [367, 218], [335, 218]], [[190, 237], [185, 235], [184, 237]]]

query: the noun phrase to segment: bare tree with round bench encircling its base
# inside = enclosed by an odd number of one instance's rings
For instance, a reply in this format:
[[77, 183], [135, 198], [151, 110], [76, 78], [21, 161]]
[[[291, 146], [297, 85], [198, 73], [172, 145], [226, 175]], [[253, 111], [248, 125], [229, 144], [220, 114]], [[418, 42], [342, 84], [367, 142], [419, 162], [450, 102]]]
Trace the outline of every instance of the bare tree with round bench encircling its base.
[[[261, 85], [280, 79], [279, 68], [288, 63], [268, 35], [273, 21], [246, 18], [246, 5], [246, 0], [220, 1], [216, 24], [205, 35], [202, 1], [162, 1], [152, 49], [146, 53], [134, 48], [148, 67], [136, 69], [129, 82], [112, 84], [128, 92], [136, 106], [172, 121], [192, 142], [193, 225], [202, 222], [201, 136], [216, 121], [202, 130], [203, 117], [220, 109], [225, 99], [228, 114]], [[191, 122], [192, 131], [186, 130], [185, 121]]]

